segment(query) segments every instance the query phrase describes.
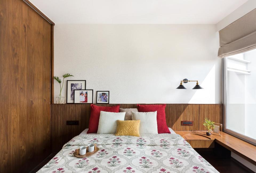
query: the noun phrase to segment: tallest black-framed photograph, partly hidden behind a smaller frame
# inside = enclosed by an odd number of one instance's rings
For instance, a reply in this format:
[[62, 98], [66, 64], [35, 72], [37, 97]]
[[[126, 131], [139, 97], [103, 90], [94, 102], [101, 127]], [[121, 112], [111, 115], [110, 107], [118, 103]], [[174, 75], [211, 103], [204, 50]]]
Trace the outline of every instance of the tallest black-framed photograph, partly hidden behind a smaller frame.
[[74, 103], [74, 90], [85, 90], [86, 81], [67, 81], [67, 103]]

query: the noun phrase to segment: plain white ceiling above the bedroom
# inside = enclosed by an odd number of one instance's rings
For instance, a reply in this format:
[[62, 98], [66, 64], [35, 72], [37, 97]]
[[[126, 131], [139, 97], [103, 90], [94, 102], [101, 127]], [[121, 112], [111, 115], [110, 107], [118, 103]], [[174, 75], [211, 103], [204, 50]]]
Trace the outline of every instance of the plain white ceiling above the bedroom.
[[216, 24], [247, 0], [30, 0], [55, 23]]

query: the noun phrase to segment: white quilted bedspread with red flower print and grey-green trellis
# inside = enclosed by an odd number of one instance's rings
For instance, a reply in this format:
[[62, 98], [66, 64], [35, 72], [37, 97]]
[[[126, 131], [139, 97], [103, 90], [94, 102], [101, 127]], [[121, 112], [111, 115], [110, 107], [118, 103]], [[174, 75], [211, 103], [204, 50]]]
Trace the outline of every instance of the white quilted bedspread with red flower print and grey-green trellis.
[[[97, 144], [99, 151], [87, 158], [73, 152]], [[218, 173], [178, 134], [135, 136], [78, 135], [38, 173]]]

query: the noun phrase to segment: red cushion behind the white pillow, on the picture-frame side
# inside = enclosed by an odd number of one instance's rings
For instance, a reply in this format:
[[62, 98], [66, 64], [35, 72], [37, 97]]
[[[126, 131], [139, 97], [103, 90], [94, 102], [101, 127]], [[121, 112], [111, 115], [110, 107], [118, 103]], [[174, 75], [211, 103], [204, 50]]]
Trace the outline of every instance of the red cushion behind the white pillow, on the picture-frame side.
[[119, 112], [120, 105], [117, 106], [96, 106], [91, 104], [91, 116], [89, 120], [89, 130], [87, 133], [97, 133], [99, 126], [99, 114], [105, 112]]

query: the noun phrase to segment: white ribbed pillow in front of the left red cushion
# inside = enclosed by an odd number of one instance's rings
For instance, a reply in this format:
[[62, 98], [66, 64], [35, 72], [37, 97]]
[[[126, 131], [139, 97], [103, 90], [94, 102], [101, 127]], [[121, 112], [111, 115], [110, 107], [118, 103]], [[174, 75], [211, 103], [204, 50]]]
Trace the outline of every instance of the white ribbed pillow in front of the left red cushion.
[[117, 120], [125, 120], [125, 112], [101, 111], [97, 134], [114, 134], [117, 130]]

